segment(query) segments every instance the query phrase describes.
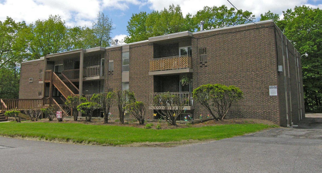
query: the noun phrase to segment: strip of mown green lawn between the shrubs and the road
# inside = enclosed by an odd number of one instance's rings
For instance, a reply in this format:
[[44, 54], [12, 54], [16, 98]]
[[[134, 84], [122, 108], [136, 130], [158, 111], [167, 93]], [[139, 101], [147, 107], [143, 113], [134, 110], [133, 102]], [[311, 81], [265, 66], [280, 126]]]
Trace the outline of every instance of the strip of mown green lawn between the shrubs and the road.
[[97, 145], [124, 145], [133, 142], [219, 140], [272, 127], [265, 124], [230, 124], [181, 129], [141, 129], [78, 123], [0, 123], [0, 135], [85, 142]]

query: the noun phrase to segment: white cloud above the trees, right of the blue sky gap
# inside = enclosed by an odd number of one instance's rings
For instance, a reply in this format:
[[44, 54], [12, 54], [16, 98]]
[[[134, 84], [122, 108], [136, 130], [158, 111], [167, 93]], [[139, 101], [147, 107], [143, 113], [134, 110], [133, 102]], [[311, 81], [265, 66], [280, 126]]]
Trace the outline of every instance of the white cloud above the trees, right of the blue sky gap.
[[[308, 2], [308, 0], [270, 0], [270, 1], [258, 1], [258, 0], [230, 0], [230, 2], [238, 9], [248, 10], [252, 12], [256, 18], [260, 17], [260, 14], [264, 14], [270, 10], [273, 13], [279, 15], [282, 11], [288, 8], [294, 8], [295, 5], [299, 6]], [[221, 6], [226, 5], [231, 8], [232, 5], [227, 0], [148, 0], [151, 10], [163, 10], [165, 7], [168, 8], [169, 5], [179, 4], [183, 15], [185, 14], [196, 14], [197, 11], [204, 8], [204, 6]], [[313, 5], [309, 5], [312, 6]]]

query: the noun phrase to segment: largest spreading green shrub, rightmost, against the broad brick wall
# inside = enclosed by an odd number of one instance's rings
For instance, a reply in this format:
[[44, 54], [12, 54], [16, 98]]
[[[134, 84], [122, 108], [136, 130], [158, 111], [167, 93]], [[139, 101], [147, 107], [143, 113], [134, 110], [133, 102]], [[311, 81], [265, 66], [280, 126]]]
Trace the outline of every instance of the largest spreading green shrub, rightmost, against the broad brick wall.
[[[242, 91], [234, 86], [226, 87], [221, 84], [202, 85], [193, 91], [194, 99], [203, 105], [218, 121], [223, 120], [231, 105], [242, 99]], [[217, 112], [218, 118], [213, 114]]]

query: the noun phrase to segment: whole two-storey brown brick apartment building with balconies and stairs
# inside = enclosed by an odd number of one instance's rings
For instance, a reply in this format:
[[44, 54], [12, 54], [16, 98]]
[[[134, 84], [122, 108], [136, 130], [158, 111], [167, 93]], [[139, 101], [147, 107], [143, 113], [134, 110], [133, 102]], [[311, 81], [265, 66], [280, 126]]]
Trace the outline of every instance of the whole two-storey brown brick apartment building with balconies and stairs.
[[[62, 104], [71, 94], [90, 99], [94, 93], [129, 89], [153, 118], [149, 98], [171, 92], [191, 98], [181, 119], [187, 114], [198, 118], [209, 113], [193, 102], [192, 90], [218, 83], [244, 93], [228, 118], [265, 119], [287, 126], [305, 117], [300, 57], [271, 20], [178, 32], [23, 62], [19, 98], [52, 96]], [[191, 78], [190, 84], [182, 86], [182, 77]], [[117, 107], [110, 112], [117, 116]]]

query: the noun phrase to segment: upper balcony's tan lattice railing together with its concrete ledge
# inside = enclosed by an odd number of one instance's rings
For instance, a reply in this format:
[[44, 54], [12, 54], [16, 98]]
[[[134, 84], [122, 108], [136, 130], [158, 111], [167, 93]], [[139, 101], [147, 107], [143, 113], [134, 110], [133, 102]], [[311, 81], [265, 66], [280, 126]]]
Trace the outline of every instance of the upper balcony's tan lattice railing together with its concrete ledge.
[[192, 73], [191, 56], [175, 56], [166, 58], [150, 59], [149, 75], [167, 75]]

